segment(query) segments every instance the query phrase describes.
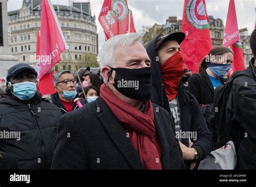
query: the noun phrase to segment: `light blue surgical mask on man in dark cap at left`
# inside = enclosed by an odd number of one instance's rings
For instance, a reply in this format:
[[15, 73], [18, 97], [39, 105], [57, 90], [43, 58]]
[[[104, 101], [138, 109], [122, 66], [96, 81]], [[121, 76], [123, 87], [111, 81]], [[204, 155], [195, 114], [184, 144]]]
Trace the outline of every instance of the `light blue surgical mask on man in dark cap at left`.
[[[10, 85], [12, 85], [9, 82]], [[35, 82], [20, 82], [12, 85], [14, 87], [14, 96], [21, 100], [29, 100], [36, 94], [36, 83]]]

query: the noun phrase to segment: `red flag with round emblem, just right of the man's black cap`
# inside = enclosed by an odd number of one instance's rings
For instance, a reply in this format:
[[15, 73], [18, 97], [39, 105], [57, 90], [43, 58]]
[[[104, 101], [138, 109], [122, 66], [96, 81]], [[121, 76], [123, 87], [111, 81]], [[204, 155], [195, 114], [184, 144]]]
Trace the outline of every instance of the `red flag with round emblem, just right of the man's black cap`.
[[186, 34], [180, 45], [183, 59], [192, 73], [198, 73], [201, 60], [212, 49], [205, 0], [185, 0], [181, 31]]

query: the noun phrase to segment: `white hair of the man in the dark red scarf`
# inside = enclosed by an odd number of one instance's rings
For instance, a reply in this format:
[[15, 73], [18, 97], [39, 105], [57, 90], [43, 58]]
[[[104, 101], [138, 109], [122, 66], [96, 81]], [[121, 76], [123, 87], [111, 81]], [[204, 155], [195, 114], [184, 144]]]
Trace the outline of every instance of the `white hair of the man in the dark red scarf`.
[[[103, 66], [115, 67], [116, 58], [115, 51], [118, 47], [127, 47], [134, 44], [134, 42], [139, 42], [142, 44], [142, 34], [138, 33], [128, 33], [116, 35], [105, 42], [99, 51], [99, 67], [102, 69]], [[104, 79], [104, 82], [106, 80]]]

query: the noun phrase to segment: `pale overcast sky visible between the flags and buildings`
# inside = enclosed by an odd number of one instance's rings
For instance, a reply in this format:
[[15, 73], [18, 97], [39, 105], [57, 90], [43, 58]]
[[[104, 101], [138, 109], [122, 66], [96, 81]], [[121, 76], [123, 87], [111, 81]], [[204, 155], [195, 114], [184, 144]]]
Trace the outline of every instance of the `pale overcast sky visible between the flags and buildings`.
[[[52, 4], [68, 5], [69, 0], [51, 0]], [[87, 2], [88, 0], [82, 0]], [[8, 11], [17, 10], [22, 7], [23, 0], [8, 0]], [[80, 2], [80, 0], [75, 0]], [[104, 0], [90, 0], [92, 15], [96, 15], [97, 32], [99, 34], [99, 49], [105, 42], [103, 28], [100, 26], [98, 16]], [[137, 32], [142, 31], [142, 26], [165, 24], [169, 16], [182, 18], [184, 0], [127, 0], [129, 8], [133, 13], [133, 21]], [[229, 0], [206, 0], [207, 13], [214, 18], [223, 19], [226, 24]], [[238, 27], [248, 28], [251, 34], [255, 23], [255, 2], [256, 0], [235, 0], [237, 11]]]

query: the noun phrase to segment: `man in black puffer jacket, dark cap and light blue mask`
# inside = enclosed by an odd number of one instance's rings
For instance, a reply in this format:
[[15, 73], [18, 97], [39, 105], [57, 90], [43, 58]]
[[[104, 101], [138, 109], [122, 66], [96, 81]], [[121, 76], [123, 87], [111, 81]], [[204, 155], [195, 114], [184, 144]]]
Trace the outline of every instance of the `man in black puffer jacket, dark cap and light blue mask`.
[[0, 151], [16, 157], [20, 169], [50, 169], [57, 123], [62, 113], [36, 91], [36, 70], [19, 63], [8, 70], [0, 100]]

